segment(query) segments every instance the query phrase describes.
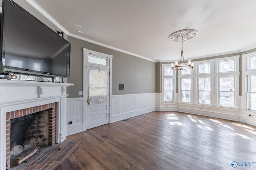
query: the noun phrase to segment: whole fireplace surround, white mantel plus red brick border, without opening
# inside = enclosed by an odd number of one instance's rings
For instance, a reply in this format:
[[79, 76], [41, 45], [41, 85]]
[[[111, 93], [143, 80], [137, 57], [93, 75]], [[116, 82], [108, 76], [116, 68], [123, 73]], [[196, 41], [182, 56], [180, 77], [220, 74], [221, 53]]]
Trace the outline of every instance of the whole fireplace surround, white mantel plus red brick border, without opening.
[[66, 139], [66, 87], [72, 85], [0, 80], [0, 170], [10, 165], [10, 119], [48, 109], [49, 143]]

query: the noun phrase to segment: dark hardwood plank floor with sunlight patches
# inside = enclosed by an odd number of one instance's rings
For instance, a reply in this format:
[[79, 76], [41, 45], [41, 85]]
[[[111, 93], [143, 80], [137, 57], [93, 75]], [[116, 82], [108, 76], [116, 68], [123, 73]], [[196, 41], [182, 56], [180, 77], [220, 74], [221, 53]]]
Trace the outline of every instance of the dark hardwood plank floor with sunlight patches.
[[79, 145], [57, 170], [256, 169], [256, 127], [186, 113], [154, 111], [66, 140]]

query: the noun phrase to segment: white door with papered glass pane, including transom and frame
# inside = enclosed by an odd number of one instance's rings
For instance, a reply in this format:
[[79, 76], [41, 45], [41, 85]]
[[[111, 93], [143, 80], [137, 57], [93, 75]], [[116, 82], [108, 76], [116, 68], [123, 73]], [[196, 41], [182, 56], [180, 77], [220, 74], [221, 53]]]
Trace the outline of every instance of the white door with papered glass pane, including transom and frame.
[[86, 61], [84, 106], [86, 129], [91, 129], [110, 122], [110, 55], [86, 50]]

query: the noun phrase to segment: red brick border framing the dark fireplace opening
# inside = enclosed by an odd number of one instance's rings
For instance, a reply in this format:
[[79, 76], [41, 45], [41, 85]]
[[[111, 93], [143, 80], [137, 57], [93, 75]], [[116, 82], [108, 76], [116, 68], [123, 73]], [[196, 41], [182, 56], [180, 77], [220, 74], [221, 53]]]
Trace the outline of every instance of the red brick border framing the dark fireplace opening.
[[26, 109], [11, 111], [6, 113], [6, 162], [8, 167], [10, 168], [10, 132], [11, 132], [11, 124], [10, 120], [21, 117], [24, 115], [29, 115], [32, 113], [36, 113], [38, 111], [49, 110], [49, 135], [48, 141], [49, 145], [56, 144], [56, 122], [57, 122], [57, 104], [45, 104], [35, 107], [30, 107]]

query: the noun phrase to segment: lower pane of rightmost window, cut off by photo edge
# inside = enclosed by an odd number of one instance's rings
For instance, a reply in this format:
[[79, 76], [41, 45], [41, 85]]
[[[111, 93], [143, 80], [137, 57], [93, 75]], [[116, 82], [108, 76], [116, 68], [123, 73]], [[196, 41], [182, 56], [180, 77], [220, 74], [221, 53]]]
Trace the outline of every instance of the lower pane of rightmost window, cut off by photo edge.
[[256, 75], [248, 76], [248, 109], [256, 111]]

